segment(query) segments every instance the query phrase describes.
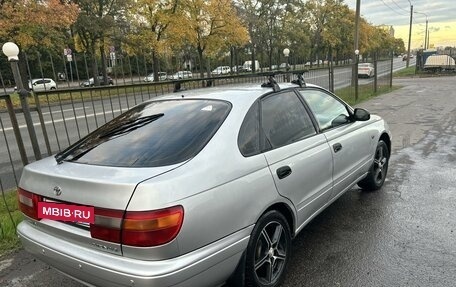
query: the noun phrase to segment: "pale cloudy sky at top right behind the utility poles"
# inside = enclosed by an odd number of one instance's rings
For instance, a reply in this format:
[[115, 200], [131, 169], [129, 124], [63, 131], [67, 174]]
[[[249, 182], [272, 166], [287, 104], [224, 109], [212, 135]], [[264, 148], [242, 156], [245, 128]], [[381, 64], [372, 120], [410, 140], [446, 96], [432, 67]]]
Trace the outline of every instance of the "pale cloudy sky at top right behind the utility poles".
[[[413, 5], [412, 47], [424, 41], [426, 16], [430, 43], [456, 46], [456, 0], [360, 0], [361, 16], [373, 25], [393, 25], [396, 38], [408, 39], [410, 3]], [[356, 0], [344, 0], [353, 10]]]

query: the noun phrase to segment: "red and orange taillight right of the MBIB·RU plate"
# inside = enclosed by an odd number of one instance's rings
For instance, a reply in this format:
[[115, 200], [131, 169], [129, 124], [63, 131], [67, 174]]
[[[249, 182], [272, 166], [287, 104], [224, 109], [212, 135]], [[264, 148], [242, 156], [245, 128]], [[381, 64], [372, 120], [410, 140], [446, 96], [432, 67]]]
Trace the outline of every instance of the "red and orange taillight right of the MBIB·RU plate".
[[[123, 220], [122, 220], [123, 218]], [[131, 246], [157, 246], [176, 238], [184, 218], [182, 206], [153, 211], [95, 209], [93, 238]]]

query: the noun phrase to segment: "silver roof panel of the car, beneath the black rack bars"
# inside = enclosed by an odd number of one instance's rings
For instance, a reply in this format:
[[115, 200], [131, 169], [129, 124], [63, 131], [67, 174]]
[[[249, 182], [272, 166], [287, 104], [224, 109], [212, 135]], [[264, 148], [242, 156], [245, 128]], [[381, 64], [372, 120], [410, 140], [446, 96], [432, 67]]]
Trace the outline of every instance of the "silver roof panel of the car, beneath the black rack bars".
[[[279, 87], [281, 90], [284, 90], [290, 88], [298, 88], [299, 86], [291, 83], [279, 83]], [[307, 87], [318, 86], [307, 84]], [[250, 105], [260, 96], [268, 94], [270, 92], [273, 92], [273, 89], [271, 87], [261, 87], [260, 83], [249, 83], [201, 88], [195, 90], [182, 90], [173, 94], [163, 95], [157, 99], [213, 99], [229, 101], [235, 105]]]

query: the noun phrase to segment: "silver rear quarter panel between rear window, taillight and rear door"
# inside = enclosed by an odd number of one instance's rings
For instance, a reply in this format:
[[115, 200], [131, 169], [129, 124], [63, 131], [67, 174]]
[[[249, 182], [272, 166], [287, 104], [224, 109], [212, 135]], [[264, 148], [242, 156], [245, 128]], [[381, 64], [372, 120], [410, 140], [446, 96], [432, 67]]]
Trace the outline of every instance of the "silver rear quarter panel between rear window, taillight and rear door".
[[151, 210], [182, 205], [184, 223], [176, 238], [182, 254], [255, 224], [270, 205], [286, 201], [264, 155], [241, 155], [237, 136], [243, 116], [238, 112], [233, 108], [196, 157], [140, 183], [128, 206]]

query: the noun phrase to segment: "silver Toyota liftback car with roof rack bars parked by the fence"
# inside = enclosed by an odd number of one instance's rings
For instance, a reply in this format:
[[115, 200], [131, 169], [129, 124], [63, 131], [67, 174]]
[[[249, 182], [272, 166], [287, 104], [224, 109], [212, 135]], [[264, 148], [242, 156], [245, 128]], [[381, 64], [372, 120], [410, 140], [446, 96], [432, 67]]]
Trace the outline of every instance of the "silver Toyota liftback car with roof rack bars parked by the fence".
[[382, 187], [379, 116], [302, 81], [144, 102], [24, 168], [25, 249], [90, 286], [278, 286], [292, 239]]

